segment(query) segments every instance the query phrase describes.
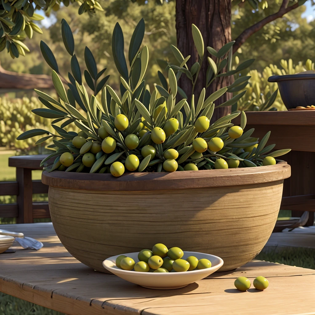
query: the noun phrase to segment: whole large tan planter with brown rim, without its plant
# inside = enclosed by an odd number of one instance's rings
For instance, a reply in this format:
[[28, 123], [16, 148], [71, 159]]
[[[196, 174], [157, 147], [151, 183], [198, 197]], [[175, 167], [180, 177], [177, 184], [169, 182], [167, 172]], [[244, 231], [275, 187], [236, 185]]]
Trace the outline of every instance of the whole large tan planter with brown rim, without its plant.
[[221, 271], [250, 261], [264, 247], [280, 208], [281, 163], [246, 169], [110, 174], [43, 172], [61, 243], [85, 265], [121, 253], [169, 248], [221, 257]]

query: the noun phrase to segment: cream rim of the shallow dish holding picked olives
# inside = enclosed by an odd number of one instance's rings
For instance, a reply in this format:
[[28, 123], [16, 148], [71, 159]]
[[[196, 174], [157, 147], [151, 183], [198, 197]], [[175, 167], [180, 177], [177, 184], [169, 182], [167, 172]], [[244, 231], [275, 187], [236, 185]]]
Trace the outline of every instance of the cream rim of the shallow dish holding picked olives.
[[[206, 254], [206, 253], [201, 253], [201, 252], [190, 252], [190, 251], [183, 251], [184, 254], [185, 253], [189, 253], [189, 254], [203, 254], [203, 255], [207, 255], [207, 256], [211, 256], [211, 257], [214, 257], [214, 258], [217, 258], [219, 259], [219, 264], [215, 265], [215, 266], [212, 266], [212, 263], [211, 263], [211, 267], [210, 268], [204, 268], [204, 269], [198, 269], [198, 270], [192, 270], [192, 271], [189, 271], [189, 274], [200, 274], [200, 273], [204, 273], [205, 271], [211, 271], [215, 268], [219, 269], [223, 266], [224, 264], [224, 261], [221, 257], [219, 256], [215, 256], [215, 255], [211, 255], [211, 254]], [[173, 276], [175, 275], [183, 275], [183, 274], [187, 274], [187, 271], [180, 271], [180, 272], [142, 272], [142, 271], [132, 271], [132, 270], [123, 270], [123, 269], [116, 269], [116, 268], [113, 268], [113, 267], [110, 267], [110, 266], [106, 266], [105, 267], [105, 262], [106, 261], [110, 261], [111, 259], [113, 258], [117, 258], [118, 256], [120, 255], [130, 255], [130, 254], [138, 254], [139, 252], [133, 252], [133, 253], [125, 253], [125, 254], [119, 254], [119, 255], [115, 255], [115, 256], [112, 256], [112, 257], [109, 257], [107, 259], [105, 259], [103, 262], [102, 262], [102, 265], [105, 269], [107, 269], [108, 271], [112, 272], [112, 273], [115, 273], [114, 271], [117, 271], [120, 273], [120, 274], [126, 274], [126, 275], [130, 275], [130, 274], [134, 274], [135, 276], [137, 275], [147, 275], [147, 276], [152, 276], [152, 277], [157, 277], [157, 276], [167, 276], [168, 274], [172, 274]], [[127, 256], [128, 257], [128, 256]], [[115, 258], [115, 260], [116, 260]], [[219, 266], [219, 267], [218, 267]]]

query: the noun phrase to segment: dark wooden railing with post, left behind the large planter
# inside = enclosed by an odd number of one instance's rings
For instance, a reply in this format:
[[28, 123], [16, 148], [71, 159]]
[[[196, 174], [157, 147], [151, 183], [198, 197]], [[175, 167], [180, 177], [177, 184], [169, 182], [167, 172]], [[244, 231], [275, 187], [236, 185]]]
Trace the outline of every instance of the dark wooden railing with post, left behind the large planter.
[[9, 157], [9, 166], [16, 167], [16, 181], [0, 182], [0, 196], [15, 195], [16, 203], [0, 204], [1, 218], [16, 218], [17, 223], [33, 223], [33, 219], [50, 218], [48, 202], [33, 202], [33, 194], [48, 193], [41, 180], [32, 180], [32, 170], [42, 169], [46, 155]]

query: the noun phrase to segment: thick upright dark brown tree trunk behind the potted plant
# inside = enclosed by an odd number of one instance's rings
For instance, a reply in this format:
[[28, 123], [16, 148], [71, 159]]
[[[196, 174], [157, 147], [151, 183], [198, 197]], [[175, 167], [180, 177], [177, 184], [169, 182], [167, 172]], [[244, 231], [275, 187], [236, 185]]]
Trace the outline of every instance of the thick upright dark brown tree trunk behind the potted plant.
[[[193, 44], [192, 24], [195, 24], [204, 40], [205, 52], [202, 68], [195, 85], [195, 99], [199, 97], [201, 90], [206, 87], [206, 72], [209, 65], [207, 46], [219, 50], [223, 45], [232, 41], [231, 38], [231, 0], [176, 0], [176, 33], [177, 47], [184, 57], [191, 55], [187, 64], [190, 67], [198, 61], [198, 53]], [[215, 58], [214, 56], [210, 56]], [[232, 83], [232, 77], [220, 77], [216, 79], [206, 90], [206, 97], [218, 89]], [[189, 100], [191, 98], [192, 82], [182, 75], [179, 86], [185, 91]], [[222, 104], [231, 98], [231, 93], [226, 93], [215, 101], [215, 105]], [[230, 107], [222, 107], [215, 110], [212, 121], [231, 113]]]

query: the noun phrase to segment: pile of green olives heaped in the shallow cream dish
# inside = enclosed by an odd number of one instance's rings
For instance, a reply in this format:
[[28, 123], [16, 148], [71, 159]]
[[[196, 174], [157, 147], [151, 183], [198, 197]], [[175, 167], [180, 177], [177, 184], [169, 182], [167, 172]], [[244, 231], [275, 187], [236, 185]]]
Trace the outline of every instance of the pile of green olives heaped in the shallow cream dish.
[[139, 261], [135, 261], [125, 255], [116, 259], [116, 266], [123, 270], [134, 270], [137, 272], [185, 272], [194, 269], [205, 269], [211, 267], [208, 259], [199, 259], [189, 256], [182, 259], [184, 252], [179, 247], [168, 249], [164, 244], [157, 243], [152, 250], [142, 249], [138, 254]]

